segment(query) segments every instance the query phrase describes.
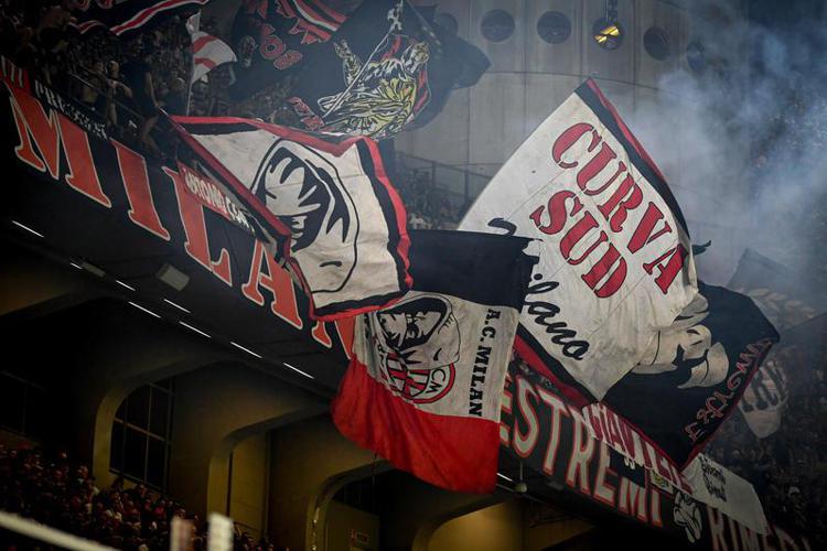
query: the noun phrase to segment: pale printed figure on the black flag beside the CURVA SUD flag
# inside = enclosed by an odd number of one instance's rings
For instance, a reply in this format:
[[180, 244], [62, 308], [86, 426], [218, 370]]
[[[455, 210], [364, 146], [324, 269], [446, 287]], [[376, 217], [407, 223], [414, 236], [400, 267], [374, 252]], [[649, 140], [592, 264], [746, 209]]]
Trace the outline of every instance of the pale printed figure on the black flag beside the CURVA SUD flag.
[[678, 371], [686, 381], [678, 388], [711, 387], [729, 371], [727, 350], [712, 343], [712, 334], [701, 322], [709, 315], [707, 299], [697, 294], [675, 322], [658, 332], [641, 363], [632, 370], [640, 375]]

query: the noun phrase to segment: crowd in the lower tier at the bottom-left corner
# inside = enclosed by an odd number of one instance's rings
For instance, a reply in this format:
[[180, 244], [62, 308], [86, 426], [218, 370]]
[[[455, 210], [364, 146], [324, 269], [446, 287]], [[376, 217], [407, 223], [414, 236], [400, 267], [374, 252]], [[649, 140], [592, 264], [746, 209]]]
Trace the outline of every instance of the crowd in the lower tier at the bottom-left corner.
[[[40, 450], [0, 445], [0, 510], [127, 551], [169, 549], [172, 519], [180, 517], [194, 527], [192, 549], [206, 548], [205, 526], [197, 515], [143, 484], [130, 486], [118, 478], [109, 488], [98, 488], [89, 468], [71, 463], [65, 453], [49, 456]], [[2, 549], [29, 549], [30, 543], [0, 530]], [[275, 548], [237, 526], [234, 549]]]

